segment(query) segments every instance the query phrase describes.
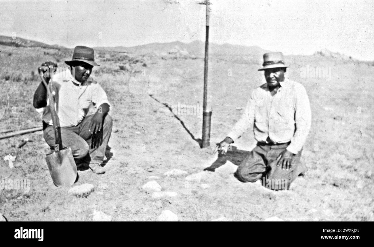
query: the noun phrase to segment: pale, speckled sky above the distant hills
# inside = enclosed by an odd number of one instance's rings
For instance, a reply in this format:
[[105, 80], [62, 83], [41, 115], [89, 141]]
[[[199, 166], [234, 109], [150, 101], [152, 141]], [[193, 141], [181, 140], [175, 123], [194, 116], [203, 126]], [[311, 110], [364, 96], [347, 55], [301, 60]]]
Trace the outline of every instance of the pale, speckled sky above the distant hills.
[[[209, 41], [374, 60], [374, 1], [210, 0]], [[175, 3], [178, 2], [178, 3]], [[66, 47], [205, 40], [197, 0], [0, 0], [0, 34]]]

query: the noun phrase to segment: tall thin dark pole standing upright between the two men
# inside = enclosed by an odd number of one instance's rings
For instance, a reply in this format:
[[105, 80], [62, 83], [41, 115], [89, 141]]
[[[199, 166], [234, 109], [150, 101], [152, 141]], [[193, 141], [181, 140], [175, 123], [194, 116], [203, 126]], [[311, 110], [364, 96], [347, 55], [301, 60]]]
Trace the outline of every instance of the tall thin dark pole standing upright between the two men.
[[209, 147], [210, 141], [210, 125], [212, 111], [207, 109], [207, 94], [208, 94], [208, 47], [209, 47], [209, 17], [210, 8], [209, 1], [206, 0], [206, 25], [205, 25], [205, 59], [204, 59], [204, 100], [203, 100], [203, 136], [202, 148]]

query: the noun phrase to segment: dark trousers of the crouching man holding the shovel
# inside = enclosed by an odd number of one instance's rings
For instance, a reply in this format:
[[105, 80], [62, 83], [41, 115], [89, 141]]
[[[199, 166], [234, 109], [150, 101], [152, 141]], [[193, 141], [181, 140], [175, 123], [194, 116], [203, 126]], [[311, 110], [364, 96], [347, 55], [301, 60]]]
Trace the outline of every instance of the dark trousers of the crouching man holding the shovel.
[[[93, 140], [91, 131], [89, 131], [93, 115], [86, 116], [77, 126], [61, 127], [62, 147], [70, 147], [74, 160], [85, 163], [99, 163], [104, 161], [105, 150], [112, 132], [113, 120], [107, 114], [101, 131], [97, 133], [98, 139]], [[55, 131], [53, 126], [45, 125], [43, 130], [44, 139], [54, 150]], [[97, 141], [98, 140], [98, 141]], [[92, 145], [97, 143], [97, 145]]]

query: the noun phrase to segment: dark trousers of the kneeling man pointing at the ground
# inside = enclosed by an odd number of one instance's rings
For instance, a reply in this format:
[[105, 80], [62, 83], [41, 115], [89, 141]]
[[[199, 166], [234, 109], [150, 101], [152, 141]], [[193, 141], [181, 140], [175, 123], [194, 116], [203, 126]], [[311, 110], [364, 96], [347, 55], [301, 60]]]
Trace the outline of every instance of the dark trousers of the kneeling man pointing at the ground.
[[238, 166], [236, 178], [242, 182], [256, 182], [261, 179], [263, 185], [271, 190], [287, 190], [300, 173], [307, 171], [306, 166], [300, 162], [301, 151], [292, 158], [291, 169], [288, 171], [282, 170], [282, 165], [277, 166], [277, 157], [288, 145], [289, 143], [257, 143]]

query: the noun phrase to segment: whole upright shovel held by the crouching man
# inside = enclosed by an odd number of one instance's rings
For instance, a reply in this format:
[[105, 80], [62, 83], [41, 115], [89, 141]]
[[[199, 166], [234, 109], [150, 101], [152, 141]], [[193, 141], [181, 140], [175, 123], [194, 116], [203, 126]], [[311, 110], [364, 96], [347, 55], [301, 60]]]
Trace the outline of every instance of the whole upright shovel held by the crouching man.
[[43, 76], [41, 68], [39, 71], [40, 78], [47, 89], [49, 109], [52, 116], [53, 129], [55, 130], [55, 152], [46, 155], [49, 173], [56, 186], [71, 186], [77, 179], [77, 166], [74, 162], [71, 148], [62, 148], [61, 128], [55, 112], [55, 100], [51, 92], [53, 71], [50, 71], [49, 85]]

